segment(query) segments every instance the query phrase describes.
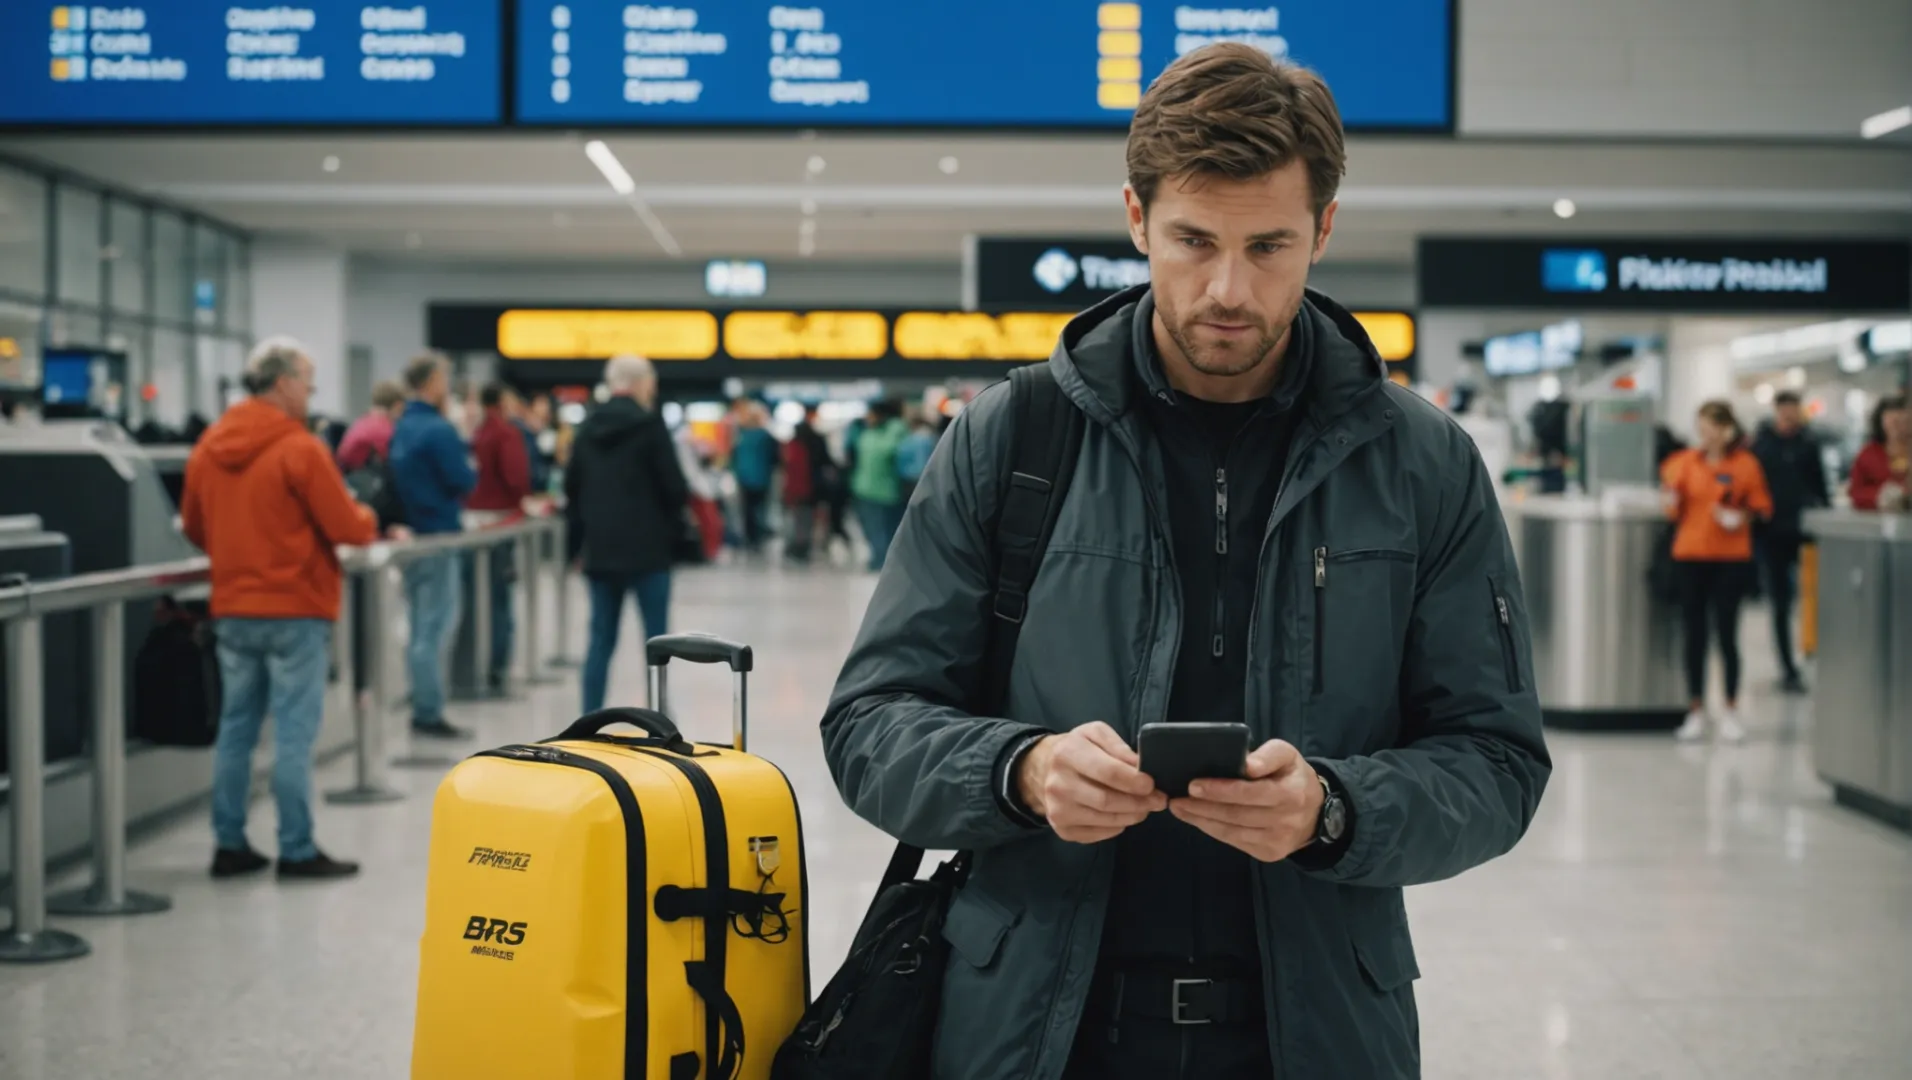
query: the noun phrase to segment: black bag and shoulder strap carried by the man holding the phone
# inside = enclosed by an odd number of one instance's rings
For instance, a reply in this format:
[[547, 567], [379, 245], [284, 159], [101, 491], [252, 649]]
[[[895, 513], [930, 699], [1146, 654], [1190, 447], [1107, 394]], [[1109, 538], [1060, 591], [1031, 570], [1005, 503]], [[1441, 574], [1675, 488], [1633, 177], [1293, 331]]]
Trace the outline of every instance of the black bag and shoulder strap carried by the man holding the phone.
[[[1029, 589], [1075, 480], [1088, 422], [1046, 363], [1010, 373], [1010, 466], [998, 476], [990, 533], [994, 619], [977, 711], [1000, 709], [1008, 698]], [[948, 961], [943, 921], [969, 875], [969, 853], [958, 853], [918, 879], [922, 862], [923, 849], [897, 845], [849, 958], [784, 1042], [772, 1080], [920, 1080], [931, 1074]]]

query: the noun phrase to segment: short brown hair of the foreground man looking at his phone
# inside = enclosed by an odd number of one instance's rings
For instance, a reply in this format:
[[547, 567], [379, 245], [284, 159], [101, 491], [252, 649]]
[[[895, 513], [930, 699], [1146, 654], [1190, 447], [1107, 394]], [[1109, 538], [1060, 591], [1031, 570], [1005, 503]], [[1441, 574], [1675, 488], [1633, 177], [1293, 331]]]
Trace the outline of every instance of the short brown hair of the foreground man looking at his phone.
[[1294, 159], [1308, 166], [1319, 222], [1348, 172], [1335, 94], [1314, 71], [1275, 63], [1239, 42], [1203, 46], [1170, 63], [1128, 124], [1128, 185], [1143, 210], [1164, 178], [1254, 180]]

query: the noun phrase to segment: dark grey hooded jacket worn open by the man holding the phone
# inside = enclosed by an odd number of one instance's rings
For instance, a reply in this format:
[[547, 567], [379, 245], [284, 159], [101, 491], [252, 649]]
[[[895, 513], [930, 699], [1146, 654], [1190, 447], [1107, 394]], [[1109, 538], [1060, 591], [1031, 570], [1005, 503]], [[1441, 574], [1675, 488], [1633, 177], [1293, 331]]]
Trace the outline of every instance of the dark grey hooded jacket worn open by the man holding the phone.
[[[1010, 445], [1008, 392], [992, 388], [937, 447], [822, 723], [851, 809], [908, 843], [975, 851], [945, 927], [939, 1080], [1061, 1076], [1096, 969], [1115, 845], [1008, 818], [990, 789], [1004, 745], [1090, 721], [1134, 745], [1168, 707], [1184, 610], [1128, 356], [1143, 292], [1076, 317], [1050, 359], [1090, 424], [1029, 598], [1011, 719], [969, 711]], [[1258, 864], [1270, 1040], [1285, 1080], [1392, 1080], [1421, 1070], [1401, 887], [1512, 849], [1551, 763], [1480, 455], [1386, 382], [1352, 315], [1310, 292], [1302, 317], [1314, 386], [1262, 545], [1247, 723], [1256, 744], [1329, 765], [1356, 832], [1331, 870]]]

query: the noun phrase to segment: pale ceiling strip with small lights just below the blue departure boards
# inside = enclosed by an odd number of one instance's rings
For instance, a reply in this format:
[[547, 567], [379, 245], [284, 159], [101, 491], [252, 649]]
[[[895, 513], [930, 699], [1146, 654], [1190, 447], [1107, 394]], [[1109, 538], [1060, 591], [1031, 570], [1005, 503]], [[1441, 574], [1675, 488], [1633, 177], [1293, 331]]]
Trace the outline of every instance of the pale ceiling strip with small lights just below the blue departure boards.
[[[662, 258], [585, 159], [587, 138], [38, 136], [0, 140], [0, 155], [352, 252]], [[967, 233], [1122, 227], [1115, 136], [619, 132], [608, 143], [686, 258], [793, 256], [805, 203], [816, 258], [945, 262]], [[323, 170], [329, 155], [337, 172]], [[1551, 210], [1560, 197], [1579, 206], [1572, 222]], [[1354, 140], [1331, 256], [1401, 264], [1423, 233], [1535, 231], [1912, 235], [1912, 147]]]

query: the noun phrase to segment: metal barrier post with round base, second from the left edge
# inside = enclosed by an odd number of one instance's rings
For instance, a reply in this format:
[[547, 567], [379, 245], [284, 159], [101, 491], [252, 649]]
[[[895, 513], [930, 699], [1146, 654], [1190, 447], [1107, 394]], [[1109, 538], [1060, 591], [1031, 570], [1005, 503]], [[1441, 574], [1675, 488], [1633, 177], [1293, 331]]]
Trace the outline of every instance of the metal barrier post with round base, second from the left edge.
[[94, 608], [94, 883], [46, 902], [55, 916], [147, 916], [172, 908], [126, 887], [126, 606]]

